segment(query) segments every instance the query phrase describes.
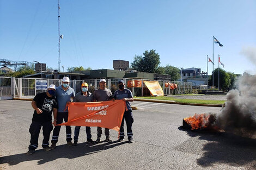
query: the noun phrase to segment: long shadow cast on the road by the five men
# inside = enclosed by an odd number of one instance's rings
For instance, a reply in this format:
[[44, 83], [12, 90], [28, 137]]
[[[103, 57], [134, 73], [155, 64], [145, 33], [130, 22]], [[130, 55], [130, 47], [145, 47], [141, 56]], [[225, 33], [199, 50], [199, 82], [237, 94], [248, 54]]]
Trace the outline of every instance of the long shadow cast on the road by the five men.
[[120, 146], [121, 144], [128, 143], [114, 141], [111, 143], [101, 142], [99, 144], [86, 144], [86, 143], [78, 143], [77, 146], [68, 146], [67, 144], [63, 144], [56, 147], [51, 151], [46, 152], [43, 149], [35, 150], [35, 153], [32, 155], [26, 155], [26, 153], [3, 156], [0, 158], [0, 165], [3, 163], [9, 163], [9, 165], [16, 165], [20, 162], [39, 160], [38, 165], [44, 164], [46, 162], [50, 162], [56, 160], [58, 158], [78, 158], [80, 156], [85, 156], [97, 152], [101, 152], [102, 150], [106, 150], [109, 148]]

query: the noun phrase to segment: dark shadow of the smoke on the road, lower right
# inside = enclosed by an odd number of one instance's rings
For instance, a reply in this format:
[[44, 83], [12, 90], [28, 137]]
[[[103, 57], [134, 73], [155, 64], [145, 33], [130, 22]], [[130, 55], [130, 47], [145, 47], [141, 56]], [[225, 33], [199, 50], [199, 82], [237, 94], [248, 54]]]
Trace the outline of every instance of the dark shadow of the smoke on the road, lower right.
[[[219, 131], [188, 130], [182, 127], [179, 127], [178, 129], [186, 131], [191, 137], [199, 136], [199, 140], [209, 141], [204, 144], [203, 156], [197, 159], [198, 165], [209, 167], [214, 165], [214, 163], [227, 163], [230, 166], [237, 166], [237, 164], [245, 166], [248, 164], [248, 166], [256, 169], [255, 138], [242, 137], [232, 133]], [[198, 145], [194, 146], [194, 148], [198, 148]], [[191, 153], [195, 152], [194, 150], [195, 149], [191, 148]]]

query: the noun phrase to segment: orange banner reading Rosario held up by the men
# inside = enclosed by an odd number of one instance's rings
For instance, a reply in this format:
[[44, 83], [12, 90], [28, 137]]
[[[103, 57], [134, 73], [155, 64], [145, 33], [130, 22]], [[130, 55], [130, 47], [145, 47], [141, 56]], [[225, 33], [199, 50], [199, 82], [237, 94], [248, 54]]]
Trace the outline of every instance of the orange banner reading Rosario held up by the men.
[[71, 102], [68, 122], [57, 125], [102, 127], [119, 131], [126, 104], [123, 100]]

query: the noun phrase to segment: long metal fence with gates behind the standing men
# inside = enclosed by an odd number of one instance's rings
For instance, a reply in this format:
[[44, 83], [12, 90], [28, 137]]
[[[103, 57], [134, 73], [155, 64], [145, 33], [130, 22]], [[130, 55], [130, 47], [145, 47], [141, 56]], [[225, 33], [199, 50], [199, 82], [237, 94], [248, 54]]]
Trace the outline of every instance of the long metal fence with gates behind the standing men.
[[[106, 86], [108, 89], [114, 93], [118, 90], [118, 81], [120, 79], [106, 79]], [[132, 91], [133, 96], [149, 96], [150, 92], [144, 85], [143, 80], [145, 79], [122, 79], [125, 82], [126, 88]], [[129, 80], [142, 80], [141, 87], [127, 87]], [[45, 89], [38, 89], [36, 82], [45, 81], [46, 86], [54, 84], [60, 86], [62, 84], [61, 79], [41, 79], [41, 78], [14, 78], [14, 77], [0, 77], [0, 99], [13, 99], [13, 98], [23, 98], [31, 99], [35, 95], [41, 92], [46, 92]], [[155, 81], [155, 80], [147, 80]], [[95, 89], [99, 88], [100, 79], [87, 79], [87, 80], [70, 80], [69, 86], [74, 89], [77, 93], [81, 90], [82, 83], [88, 83], [88, 91], [94, 92]], [[177, 84], [178, 89], [170, 89], [170, 86], [165, 87], [164, 83], [168, 81], [159, 80], [159, 84], [163, 89], [164, 95], [179, 95], [192, 93], [192, 83], [182, 82], [182, 81], [169, 81], [169, 83]]]

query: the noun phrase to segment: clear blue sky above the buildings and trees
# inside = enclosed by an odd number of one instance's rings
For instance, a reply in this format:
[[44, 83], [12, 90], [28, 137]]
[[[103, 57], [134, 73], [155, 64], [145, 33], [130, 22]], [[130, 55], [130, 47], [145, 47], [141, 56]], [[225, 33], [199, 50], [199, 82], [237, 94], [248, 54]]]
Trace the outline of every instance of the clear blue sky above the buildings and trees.
[[[58, 1], [0, 0], [0, 59], [58, 68]], [[161, 66], [256, 73], [256, 1], [60, 0], [60, 69], [113, 69], [155, 49]], [[222, 66], [221, 66], [222, 67]], [[212, 65], [209, 62], [209, 73]]]

